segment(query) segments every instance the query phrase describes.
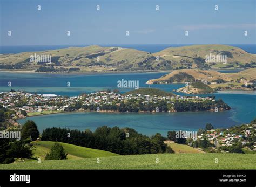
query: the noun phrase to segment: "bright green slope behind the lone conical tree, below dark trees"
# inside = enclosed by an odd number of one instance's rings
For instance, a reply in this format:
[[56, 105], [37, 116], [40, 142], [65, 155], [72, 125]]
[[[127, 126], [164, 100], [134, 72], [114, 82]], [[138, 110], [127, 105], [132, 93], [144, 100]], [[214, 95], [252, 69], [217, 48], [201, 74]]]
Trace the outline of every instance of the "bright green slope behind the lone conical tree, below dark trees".
[[[33, 154], [36, 157], [45, 158], [46, 153], [50, 152], [52, 145], [55, 142], [51, 141], [35, 141], [32, 144], [35, 146], [35, 150], [33, 150]], [[86, 147], [75, 146], [68, 143], [61, 143], [66, 153], [68, 153], [68, 159], [79, 159], [79, 158], [94, 158], [94, 157], [107, 157], [107, 156], [118, 156], [118, 154], [111, 153], [109, 151], [91, 149]]]

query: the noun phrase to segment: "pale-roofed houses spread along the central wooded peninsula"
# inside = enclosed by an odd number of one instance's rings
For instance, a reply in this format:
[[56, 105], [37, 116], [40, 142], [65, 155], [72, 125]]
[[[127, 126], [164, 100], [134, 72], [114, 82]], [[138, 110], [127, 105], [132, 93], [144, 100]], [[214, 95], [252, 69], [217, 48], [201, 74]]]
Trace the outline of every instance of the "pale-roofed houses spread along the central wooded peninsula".
[[[65, 108], [80, 102], [82, 105], [119, 105], [120, 101], [136, 99], [142, 103], [157, 103], [166, 100], [167, 103], [175, 101], [205, 101], [212, 98], [202, 98], [200, 96], [150, 96], [143, 94], [118, 94], [114, 92], [97, 92], [81, 96], [64, 97], [56, 94], [32, 94], [21, 91], [0, 92], [0, 103], [3, 107], [15, 109], [18, 113], [25, 110], [26, 113], [43, 111], [64, 111]], [[20, 114], [17, 114], [20, 115]]]

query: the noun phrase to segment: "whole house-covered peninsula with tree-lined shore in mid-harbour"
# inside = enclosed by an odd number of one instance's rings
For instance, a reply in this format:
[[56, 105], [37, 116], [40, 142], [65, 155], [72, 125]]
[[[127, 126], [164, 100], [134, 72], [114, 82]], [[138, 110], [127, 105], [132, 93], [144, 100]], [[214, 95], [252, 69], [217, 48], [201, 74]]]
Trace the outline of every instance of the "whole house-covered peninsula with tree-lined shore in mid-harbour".
[[12, 123], [17, 118], [25, 116], [76, 110], [95, 112], [218, 112], [231, 109], [223, 100], [215, 100], [214, 96], [179, 96], [154, 88], [140, 88], [126, 94], [109, 90], [72, 97], [11, 90], [0, 93], [0, 105], [9, 109]]

